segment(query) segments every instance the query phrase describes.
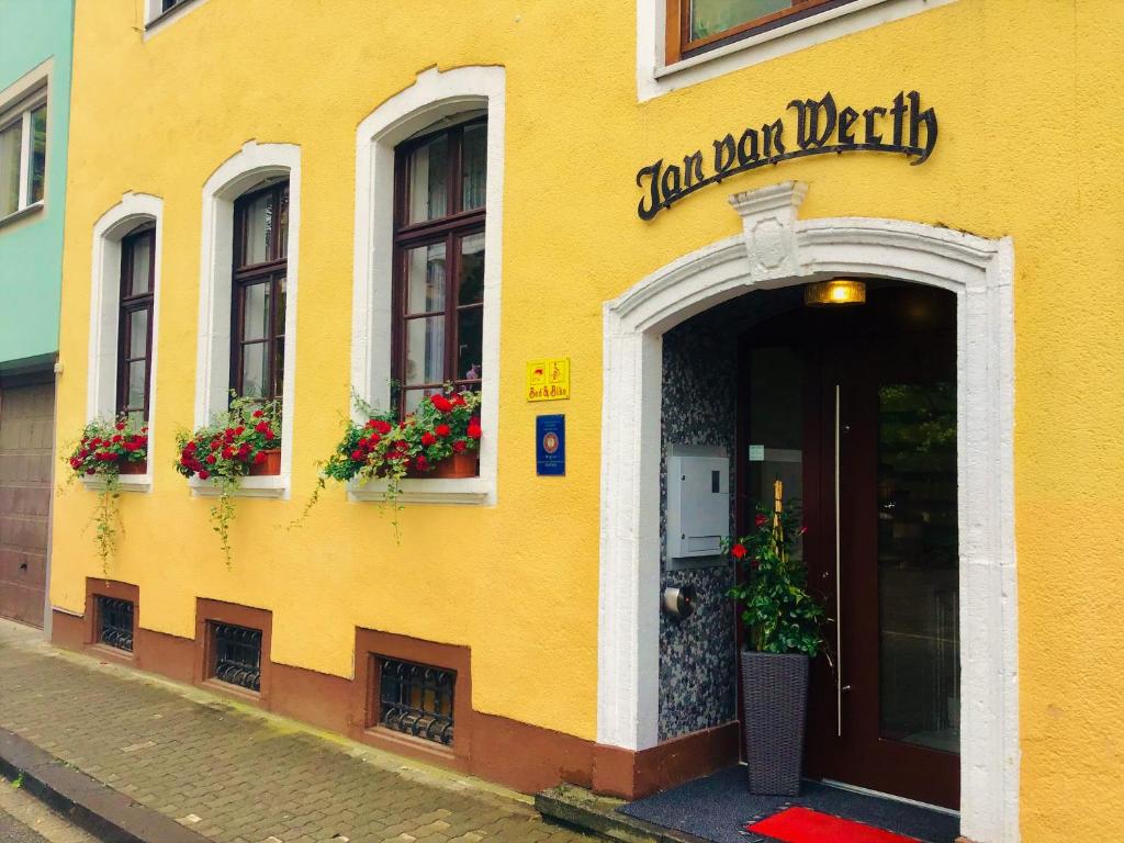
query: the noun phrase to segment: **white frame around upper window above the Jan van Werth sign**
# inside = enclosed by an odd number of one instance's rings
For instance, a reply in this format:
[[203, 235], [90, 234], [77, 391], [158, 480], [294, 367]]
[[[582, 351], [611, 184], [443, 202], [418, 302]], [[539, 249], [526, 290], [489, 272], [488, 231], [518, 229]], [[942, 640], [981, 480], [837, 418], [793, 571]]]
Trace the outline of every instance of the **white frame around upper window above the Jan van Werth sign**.
[[[667, 0], [636, 0], [636, 98], [644, 102], [770, 58], [955, 1], [854, 0], [668, 64]], [[805, 93], [791, 92], [790, 96]]]

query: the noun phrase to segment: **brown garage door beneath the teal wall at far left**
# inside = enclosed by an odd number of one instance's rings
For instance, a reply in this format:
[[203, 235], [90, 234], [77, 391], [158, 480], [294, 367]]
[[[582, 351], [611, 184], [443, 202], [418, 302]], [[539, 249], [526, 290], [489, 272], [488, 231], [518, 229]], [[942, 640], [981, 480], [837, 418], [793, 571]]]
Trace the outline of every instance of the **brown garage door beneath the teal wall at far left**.
[[43, 626], [55, 390], [0, 381], [0, 616]]

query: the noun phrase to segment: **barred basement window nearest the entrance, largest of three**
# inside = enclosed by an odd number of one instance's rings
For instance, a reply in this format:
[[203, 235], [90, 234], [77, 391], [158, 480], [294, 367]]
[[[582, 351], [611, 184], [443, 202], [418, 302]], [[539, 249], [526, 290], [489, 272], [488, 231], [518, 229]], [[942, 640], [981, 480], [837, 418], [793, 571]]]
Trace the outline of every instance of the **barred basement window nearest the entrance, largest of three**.
[[379, 724], [414, 737], [453, 743], [456, 671], [378, 656]]

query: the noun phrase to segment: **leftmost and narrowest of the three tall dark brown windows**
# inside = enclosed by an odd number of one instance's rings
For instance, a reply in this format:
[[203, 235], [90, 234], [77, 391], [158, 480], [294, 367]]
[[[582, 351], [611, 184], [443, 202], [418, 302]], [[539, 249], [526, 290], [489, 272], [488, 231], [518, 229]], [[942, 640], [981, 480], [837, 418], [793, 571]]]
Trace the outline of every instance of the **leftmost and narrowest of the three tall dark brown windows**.
[[124, 237], [117, 316], [117, 414], [139, 424], [148, 420], [155, 272], [156, 230], [149, 227]]

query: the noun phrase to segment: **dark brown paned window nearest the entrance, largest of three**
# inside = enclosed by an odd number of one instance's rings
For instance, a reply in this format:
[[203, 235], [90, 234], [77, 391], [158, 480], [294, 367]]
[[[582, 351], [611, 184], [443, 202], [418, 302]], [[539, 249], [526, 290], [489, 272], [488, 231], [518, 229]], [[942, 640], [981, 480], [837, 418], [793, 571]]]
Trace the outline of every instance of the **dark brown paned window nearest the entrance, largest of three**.
[[398, 410], [483, 377], [487, 118], [401, 144], [395, 170], [393, 366]]

